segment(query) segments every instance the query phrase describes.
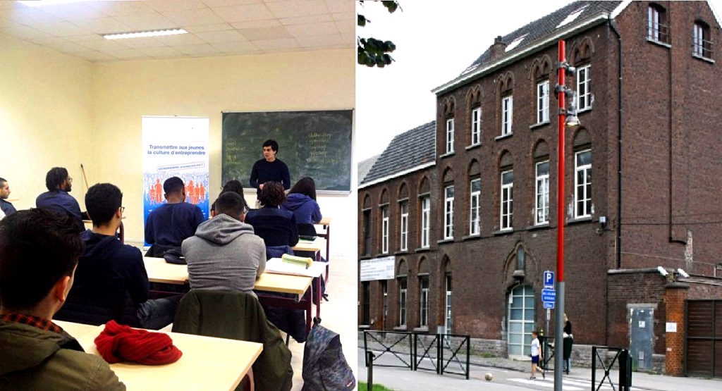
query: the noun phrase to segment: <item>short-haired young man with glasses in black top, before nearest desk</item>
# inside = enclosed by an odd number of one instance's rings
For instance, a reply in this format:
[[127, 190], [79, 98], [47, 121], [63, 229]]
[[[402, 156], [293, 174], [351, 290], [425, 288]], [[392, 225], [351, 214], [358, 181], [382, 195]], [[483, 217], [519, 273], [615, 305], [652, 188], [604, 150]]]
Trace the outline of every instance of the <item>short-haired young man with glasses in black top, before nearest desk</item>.
[[85, 206], [92, 230], [80, 234], [85, 251], [78, 260], [68, 303], [58, 312], [58, 319], [89, 324], [113, 319], [154, 330], [173, 322], [181, 296], [148, 299], [143, 255], [116, 237], [123, 216], [122, 201], [121, 190], [110, 183], [88, 189]]

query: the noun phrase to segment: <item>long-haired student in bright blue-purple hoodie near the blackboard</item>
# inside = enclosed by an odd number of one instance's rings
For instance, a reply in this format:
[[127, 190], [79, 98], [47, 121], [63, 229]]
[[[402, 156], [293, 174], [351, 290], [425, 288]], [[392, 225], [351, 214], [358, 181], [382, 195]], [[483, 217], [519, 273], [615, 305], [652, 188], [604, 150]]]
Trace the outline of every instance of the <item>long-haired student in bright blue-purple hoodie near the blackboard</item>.
[[293, 187], [286, 202], [281, 205], [284, 211], [291, 211], [302, 235], [316, 236], [313, 224], [321, 221], [321, 208], [316, 202], [316, 183], [310, 177], [301, 178]]

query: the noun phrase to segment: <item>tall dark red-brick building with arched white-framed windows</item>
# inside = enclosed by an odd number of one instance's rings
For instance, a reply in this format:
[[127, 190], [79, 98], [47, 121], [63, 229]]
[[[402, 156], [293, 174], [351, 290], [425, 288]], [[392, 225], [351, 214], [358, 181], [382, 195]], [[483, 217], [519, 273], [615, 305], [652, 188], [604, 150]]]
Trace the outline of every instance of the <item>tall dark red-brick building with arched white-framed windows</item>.
[[581, 122], [567, 128], [563, 170], [575, 344], [630, 347], [640, 369], [708, 373], [695, 365], [722, 354], [722, 328], [692, 341], [684, 311], [722, 299], [721, 39], [706, 1], [576, 1], [497, 37], [433, 90], [436, 120], [396, 136], [360, 185], [360, 263], [394, 263], [393, 278], [360, 282], [360, 326], [529, 355], [531, 330], [545, 327], [542, 273], [556, 268], [565, 40]]

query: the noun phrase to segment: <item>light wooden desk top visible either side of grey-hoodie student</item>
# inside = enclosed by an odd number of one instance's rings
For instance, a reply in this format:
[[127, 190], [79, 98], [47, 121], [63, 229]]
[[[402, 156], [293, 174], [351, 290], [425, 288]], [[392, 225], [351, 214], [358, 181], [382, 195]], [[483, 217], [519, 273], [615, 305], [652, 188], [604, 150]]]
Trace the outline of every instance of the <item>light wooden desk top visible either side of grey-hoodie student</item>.
[[[188, 266], [165, 262], [163, 258], [143, 257], [148, 281], [165, 284], [183, 285], [188, 281]], [[263, 273], [256, 280], [255, 289], [259, 291], [303, 294], [313, 278]], [[63, 327], [61, 325], [61, 327]]]

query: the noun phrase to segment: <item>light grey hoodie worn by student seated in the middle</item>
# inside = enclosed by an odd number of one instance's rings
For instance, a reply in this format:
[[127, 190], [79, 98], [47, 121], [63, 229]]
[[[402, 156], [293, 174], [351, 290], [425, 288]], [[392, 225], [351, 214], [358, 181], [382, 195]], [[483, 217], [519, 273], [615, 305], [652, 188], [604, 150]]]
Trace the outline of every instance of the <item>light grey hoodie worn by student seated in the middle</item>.
[[[266, 245], [253, 227], [219, 214], [183, 240], [191, 289], [233, 289], [253, 294], [266, 268]], [[255, 294], [254, 294], [255, 296]]]

